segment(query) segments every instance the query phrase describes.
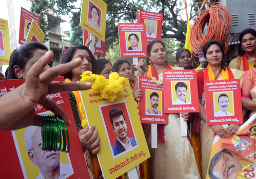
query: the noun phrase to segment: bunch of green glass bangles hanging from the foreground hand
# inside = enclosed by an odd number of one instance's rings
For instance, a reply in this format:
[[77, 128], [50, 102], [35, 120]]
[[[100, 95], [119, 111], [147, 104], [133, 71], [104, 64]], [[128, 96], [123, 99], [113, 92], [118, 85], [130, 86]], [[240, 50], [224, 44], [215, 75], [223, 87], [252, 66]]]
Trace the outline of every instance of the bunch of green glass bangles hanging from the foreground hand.
[[42, 150], [68, 152], [70, 143], [68, 130], [64, 121], [52, 115], [42, 115], [42, 117]]

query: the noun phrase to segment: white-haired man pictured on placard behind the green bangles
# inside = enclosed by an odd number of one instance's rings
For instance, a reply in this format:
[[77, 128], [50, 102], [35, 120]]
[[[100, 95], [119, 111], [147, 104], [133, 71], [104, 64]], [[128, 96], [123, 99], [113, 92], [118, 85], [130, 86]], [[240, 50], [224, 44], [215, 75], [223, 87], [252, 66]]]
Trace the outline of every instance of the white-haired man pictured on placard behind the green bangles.
[[36, 179], [64, 179], [74, 173], [70, 164], [61, 163], [60, 151], [42, 150], [41, 127], [27, 127], [24, 139], [29, 159], [40, 169], [39, 175]]

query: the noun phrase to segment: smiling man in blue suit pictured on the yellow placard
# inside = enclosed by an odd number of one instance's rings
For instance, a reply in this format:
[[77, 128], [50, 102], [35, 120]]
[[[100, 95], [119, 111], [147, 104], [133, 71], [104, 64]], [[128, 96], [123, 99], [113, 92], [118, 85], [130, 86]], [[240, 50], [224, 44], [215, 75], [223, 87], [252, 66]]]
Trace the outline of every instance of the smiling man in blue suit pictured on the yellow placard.
[[132, 149], [137, 145], [136, 140], [127, 137], [127, 123], [123, 111], [119, 107], [112, 107], [109, 111], [112, 128], [117, 135], [112, 148], [114, 155]]

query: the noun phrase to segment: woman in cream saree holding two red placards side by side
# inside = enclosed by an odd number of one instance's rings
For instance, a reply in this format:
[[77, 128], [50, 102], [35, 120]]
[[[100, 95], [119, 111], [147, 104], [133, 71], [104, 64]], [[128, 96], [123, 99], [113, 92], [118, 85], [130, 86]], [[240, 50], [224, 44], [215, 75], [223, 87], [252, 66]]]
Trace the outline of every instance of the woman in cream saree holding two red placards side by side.
[[[147, 47], [148, 72], [142, 69], [144, 60], [137, 64], [139, 76], [163, 78], [163, 70], [175, 70], [167, 62], [167, 54], [164, 43], [160, 40], [152, 40]], [[145, 68], [145, 67], [144, 67]], [[139, 101], [142, 91], [136, 83], [133, 90], [135, 98]], [[187, 120], [188, 113], [181, 113]], [[194, 151], [187, 137], [181, 136], [180, 114], [169, 114], [169, 124], [157, 124], [157, 138], [160, 141], [156, 149], [151, 148], [151, 125], [144, 124], [145, 137], [151, 154], [150, 168], [153, 178], [200, 178], [196, 165]]]

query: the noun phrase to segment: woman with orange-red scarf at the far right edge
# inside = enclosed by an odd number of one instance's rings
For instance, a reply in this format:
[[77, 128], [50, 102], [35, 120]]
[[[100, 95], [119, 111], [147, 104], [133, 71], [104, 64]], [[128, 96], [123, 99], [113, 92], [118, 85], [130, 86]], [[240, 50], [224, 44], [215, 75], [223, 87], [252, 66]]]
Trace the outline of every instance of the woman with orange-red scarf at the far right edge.
[[256, 31], [245, 29], [239, 37], [239, 46], [242, 53], [229, 63], [229, 67], [242, 71], [248, 71], [255, 66], [256, 60]]

